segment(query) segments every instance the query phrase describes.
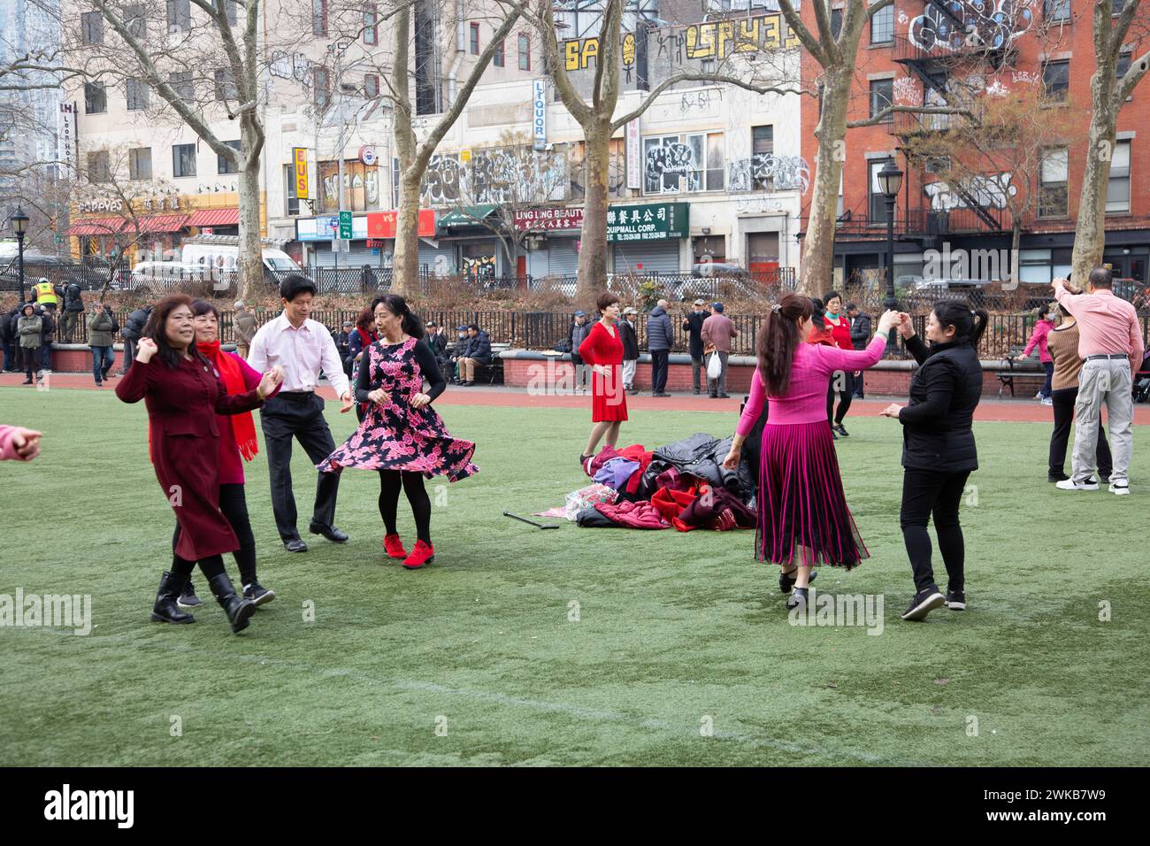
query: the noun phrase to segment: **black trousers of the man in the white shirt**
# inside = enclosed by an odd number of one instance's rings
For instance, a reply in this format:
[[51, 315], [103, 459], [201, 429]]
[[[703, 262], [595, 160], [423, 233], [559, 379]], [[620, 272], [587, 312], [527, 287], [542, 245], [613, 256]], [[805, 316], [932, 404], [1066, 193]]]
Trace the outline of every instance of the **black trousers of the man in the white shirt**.
[[[260, 427], [268, 447], [271, 510], [276, 516], [279, 538], [286, 543], [299, 538], [296, 528], [296, 495], [291, 487], [292, 439], [299, 441], [312, 464], [319, 464], [330, 456], [336, 444], [331, 440], [328, 421], [323, 418], [323, 398], [315, 394], [271, 397], [260, 411]], [[312, 521], [331, 526], [336, 519], [339, 474], [320, 473], [319, 477]]]

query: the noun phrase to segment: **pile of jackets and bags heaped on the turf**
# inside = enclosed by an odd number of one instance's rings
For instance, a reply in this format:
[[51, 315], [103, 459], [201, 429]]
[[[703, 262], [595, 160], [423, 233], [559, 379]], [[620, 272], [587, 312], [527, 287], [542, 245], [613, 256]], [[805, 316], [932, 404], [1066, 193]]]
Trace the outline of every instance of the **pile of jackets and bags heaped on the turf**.
[[[597, 483], [595, 489], [583, 488], [568, 500], [578, 494], [595, 500], [606, 493], [610, 501], [588, 502], [576, 512], [576, 523], [680, 532], [754, 528], [757, 470], [752, 467], [757, 465], [744, 459], [737, 471], [724, 468], [730, 443], [729, 437], [697, 433], [653, 451], [642, 444], [604, 448], [583, 465]], [[604, 486], [614, 495], [603, 491]]]

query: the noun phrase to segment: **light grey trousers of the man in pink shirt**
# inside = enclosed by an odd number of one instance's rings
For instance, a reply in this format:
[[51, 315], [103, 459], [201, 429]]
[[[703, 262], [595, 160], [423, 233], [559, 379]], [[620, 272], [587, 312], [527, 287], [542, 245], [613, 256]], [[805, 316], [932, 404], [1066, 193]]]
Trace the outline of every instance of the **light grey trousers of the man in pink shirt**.
[[1134, 397], [1129, 359], [1097, 358], [1086, 361], [1079, 373], [1079, 396], [1074, 403], [1073, 475], [1084, 482], [1094, 474], [1098, 422], [1103, 404], [1110, 425], [1110, 451], [1114, 468], [1110, 483], [1129, 482], [1130, 455], [1134, 451]]

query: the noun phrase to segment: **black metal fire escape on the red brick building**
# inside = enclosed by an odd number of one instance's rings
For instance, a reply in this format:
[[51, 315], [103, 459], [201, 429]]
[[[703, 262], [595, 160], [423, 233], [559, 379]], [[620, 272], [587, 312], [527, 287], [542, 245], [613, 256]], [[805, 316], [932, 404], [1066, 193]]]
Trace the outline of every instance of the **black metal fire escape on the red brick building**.
[[[921, 105], [945, 105], [942, 92], [956, 69], [980, 64], [998, 68], [1011, 60], [1009, 29], [987, 17], [979, 10], [981, 6], [972, 0], [923, 0], [922, 15], [912, 17], [907, 29], [895, 35], [892, 59], [921, 84]], [[953, 121], [946, 114], [902, 112], [894, 119], [890, 132], [898, 139], [899, 151], [905, 151], [912, 138], [948, 131]], [[915, 167], [921, 188], [929, 183], [929, 160]], [[920, 207], [914, 207], [913, 193], [912, 188], [906, 227], [899, 235], [903, 241], [920, 243], [923, 250], [937, 249], [938, 242], [952, 234], [1000, 235], [1007, 229], [1005, 209], [988, 203], [986, 192], [968, 190], [958, 181], [949, 181], [934, 200], [920, 191]]]

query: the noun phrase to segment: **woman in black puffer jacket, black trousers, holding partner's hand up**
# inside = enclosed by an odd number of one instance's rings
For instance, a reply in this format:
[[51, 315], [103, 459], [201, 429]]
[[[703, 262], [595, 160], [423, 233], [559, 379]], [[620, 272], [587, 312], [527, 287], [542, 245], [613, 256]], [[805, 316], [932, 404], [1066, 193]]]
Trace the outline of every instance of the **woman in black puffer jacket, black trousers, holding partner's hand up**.
[[[971, 424], [982, 397], [982, 364], [976, 346], [987, 329], [987, 313], [971, 311], [954, 299], [935, 304], [927, 320], [926, 346], [914, 334], [908, 314], [902, 314], [899, 334], [919, 363], [911, 378], [906, 407], [890, 405], [883, 416], [903, 424], [903, 506], [899, 523], [914, 570], [914, 599], [903, 619], [923, 619], [946, 603], [952, 611], [966, 608], [963, 527], [958, 508], [966, 480], [979, 468]], [[930, 566], [927, 520], [934, 515], [938, 548], [949, 579], [943, 597]]]

